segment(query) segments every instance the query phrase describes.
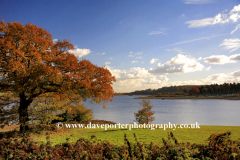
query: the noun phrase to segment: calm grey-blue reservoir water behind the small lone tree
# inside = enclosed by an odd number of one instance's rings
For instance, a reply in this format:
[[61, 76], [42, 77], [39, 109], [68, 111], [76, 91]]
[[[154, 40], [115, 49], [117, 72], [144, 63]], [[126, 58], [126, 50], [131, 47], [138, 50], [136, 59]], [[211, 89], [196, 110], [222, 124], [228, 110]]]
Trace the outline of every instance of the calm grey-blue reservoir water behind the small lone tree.
[[[141, 106], [138, 96], [115, 96], [113, 102], [91, 104], [90, 99], [83, 104], [92, 109], [94, 119], [108, 120], [121, 124], [134, 122], [134, 112]], [[155, 111], [153, 124], [194, 124], [240, 126], [240, 101], [219, 99], [149, 99]]]

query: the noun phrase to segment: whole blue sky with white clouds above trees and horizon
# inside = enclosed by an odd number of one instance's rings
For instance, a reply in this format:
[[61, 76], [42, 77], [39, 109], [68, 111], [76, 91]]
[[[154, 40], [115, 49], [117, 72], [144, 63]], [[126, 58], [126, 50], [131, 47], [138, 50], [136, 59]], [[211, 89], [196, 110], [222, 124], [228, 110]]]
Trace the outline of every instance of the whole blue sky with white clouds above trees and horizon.
[[1, 0], [0, 16], [69, 39], [115, 92], [240, 82], [239, 0]]

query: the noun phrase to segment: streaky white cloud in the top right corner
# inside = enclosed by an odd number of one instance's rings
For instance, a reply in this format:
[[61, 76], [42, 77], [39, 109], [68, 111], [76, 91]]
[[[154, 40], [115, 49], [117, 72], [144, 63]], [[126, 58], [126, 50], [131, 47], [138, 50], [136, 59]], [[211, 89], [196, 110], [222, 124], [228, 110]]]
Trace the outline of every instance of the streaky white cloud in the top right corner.
[[215, 17], [187, 21], [186, 24], [189, 24], [188, 28], [197, 28], [229, 22], [235, 23], [240, 18], [240, 4], [235, 6], [229, 13], [225, 13], [226, 11], [227, 10], [223, 11], [222, 13], [218, 13]]

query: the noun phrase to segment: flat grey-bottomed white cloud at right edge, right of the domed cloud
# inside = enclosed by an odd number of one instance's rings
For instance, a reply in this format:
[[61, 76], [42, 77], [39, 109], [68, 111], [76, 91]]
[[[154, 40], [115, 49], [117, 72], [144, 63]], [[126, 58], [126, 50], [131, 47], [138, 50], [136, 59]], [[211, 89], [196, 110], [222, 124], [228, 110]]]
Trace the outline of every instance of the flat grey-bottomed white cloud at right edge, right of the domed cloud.
[[210, 64], [226, 64], [235, 63], [237, 61], [240, 61], [240, 54], [234, 54], [229, 57], [225, 55], [212, 55], [210, 57], [204, 58], [204, 62]]

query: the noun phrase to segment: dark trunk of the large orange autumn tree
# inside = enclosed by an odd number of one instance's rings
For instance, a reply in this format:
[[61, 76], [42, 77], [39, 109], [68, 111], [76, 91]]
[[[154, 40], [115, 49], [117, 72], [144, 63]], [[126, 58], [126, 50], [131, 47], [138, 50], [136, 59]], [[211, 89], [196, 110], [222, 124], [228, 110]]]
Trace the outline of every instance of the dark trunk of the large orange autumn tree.
[[20, 94], [20, 106], [18, 108], [19, 113], [19, 124], [20, 124], [20, 131], [28, 130], [28, 106], [32, 103], [32, 100], [27, 100], [25, 94]]

